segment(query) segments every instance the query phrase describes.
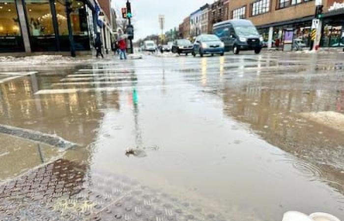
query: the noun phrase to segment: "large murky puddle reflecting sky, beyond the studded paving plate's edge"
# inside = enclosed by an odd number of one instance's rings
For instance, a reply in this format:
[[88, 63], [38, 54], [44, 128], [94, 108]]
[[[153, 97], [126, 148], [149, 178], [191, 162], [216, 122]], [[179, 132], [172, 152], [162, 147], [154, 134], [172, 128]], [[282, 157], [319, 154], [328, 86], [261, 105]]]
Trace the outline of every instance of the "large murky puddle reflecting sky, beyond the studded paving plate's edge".
[[[343, 218], [344, 125], [302, 114], [343, 114], [343, 70], [285, 56], [146, 56], [40, 71], [1, 83], [0, 124], [75, 142], [64, 158], [86, 173], [130, 177], [171, 204], [196, 204], [201, 220], [278, 221], [289, 210]], [[26, 151], [14, 157], [36, 166]]]

